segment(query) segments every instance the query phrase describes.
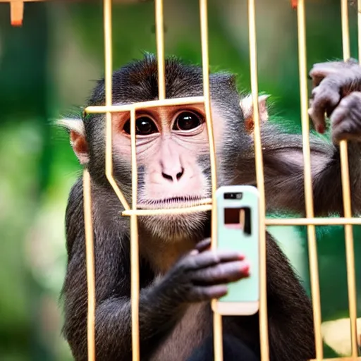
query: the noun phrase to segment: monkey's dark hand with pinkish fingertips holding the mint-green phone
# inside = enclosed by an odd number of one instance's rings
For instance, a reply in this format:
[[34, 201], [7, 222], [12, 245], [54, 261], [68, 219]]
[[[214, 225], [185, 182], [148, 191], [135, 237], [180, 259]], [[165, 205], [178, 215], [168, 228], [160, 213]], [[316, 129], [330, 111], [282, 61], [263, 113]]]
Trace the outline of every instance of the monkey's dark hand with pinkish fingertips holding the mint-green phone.
[[178, 260], [159, 285], [164, 295], [181, 302], [208, 301], [226, 295], [227, 283], [249, 276], [243, 255], [207, 250], [209, 245], [204, 240]]

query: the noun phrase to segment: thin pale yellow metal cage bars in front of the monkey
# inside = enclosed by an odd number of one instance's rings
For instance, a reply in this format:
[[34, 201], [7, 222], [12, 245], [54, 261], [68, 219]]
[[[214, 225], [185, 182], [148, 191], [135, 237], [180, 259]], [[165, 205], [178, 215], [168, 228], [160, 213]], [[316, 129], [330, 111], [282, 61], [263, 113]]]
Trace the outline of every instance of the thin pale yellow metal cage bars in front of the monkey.
[[[8, 2], [8, 0], [0, 0]], [[27, 0], [41, 1], [41, 0]], [[121, 2], [121, 1], [120, 1]], [[264, 197], [264, 173], [262, 162], [262, 143], [260, 140], [259, 109], [257, 102], [254, 106], [254, 136], [255, 136], [255, 162], [257, 170], [257, 188], [261, 194], [260, 200], [260, 273], [261, 293], [259, 307], [259, 330], [262, 361], [269, 360], [269, 340], [267, 331], [267, 273], [266, 273], [266, 238], [265, 232], [267, 226], [307, 226], [308, 245], [310, 252], [310, 274], [312, 290], [312, 307], [314, 314], [314, 330], [316, 344], [315, 360], [324, 359], [321, 332], [321, 305], [319, 295], [319, 267], [317, 262], [317, 242], [315, 235], [315, 226], [320, 225], [341, 225], [345, 229], [345, 247], [348, 275], [348, 298], [350, 310], [350, 335], [351, 335], [351, 355], [332, 360], [361, 360], [358, 356], [358, 345], [361, 343], [360, 331], [357, 335], [357, 300], [356, 300], [356, 281], [355, 281], [355, 255], [353, 247], [353, 225], [360, 225], [361, 219], [352, 216], [350, 203], [350, 179], [348, 176], [348, 148], [347, 142], [341, 142], [341, 176], [343, 185], [343, 207], [344, 216], [341, 218], [315, 218], [313, 211], [312, 199], [312, 177], [310, 171], [310, 125], [308, 118], [308, 89], [307, 89], [307, 47], [306, 47], [306, 26], [305, 26], [305, 0], [292, 0], [290, 6], [297, 11], [298, 17], [298, 59], [299, 59], [299, 76], [300, 76], [300, 101], [301, 101], [301, 118], [302, 118], [302, 141], [304, 154], [304, 171], [305, 171], [305, 203], [306, 217], [298, 219], [269, 219], [266, 217], [266, 206]], [[111, 32], [111, 0], [104, 0], [104, 42], [105, 42], [105, 84], [106, 84], [106, 106], [90, 106], [85, 109], [85, 113], [102, 113], [106, 114], [106, 177], [114, 188], [119, 201], [123, 204], [123, 216], [130, 217], [130, 235], [131, 235], [131, 302], [132, 302], [132, 347], [133, 360], [140, 360], [139, 345], [139, 260], [138, 260], [138, 242], [137, 242], [137, 217], [145, 215], [155, 215], [173, 212], [197, 212], [204, 210], [212, 211], [212, 239], [216, 238], [216, 212], [214, 192], [216, 190], [216, 159], [214, 152], [214, 135], [212, 126], [211, 107], [209, 100], [209, 59], [208, 59], [208, 19], [207, 19], [207, 0], [200, 0], [200, 23], [201, 23], [201, 43], [202, 43], [202, 69], [203, 69], [203, 97], [189, 97], [179, 99], [166, 99], [165, 94], [165, 75], [164, 75], [164, 16], [163, 1], [155, 0], [155, 18], [157, 34], [157, 59], [159, 74], [159, 99], [152, 102], [142, 102], [126, 106], [113, 106], [112, 99], [112, 32]], [[20, 0], [10, 1], [11, 5], [11, 23], [15, 26], [21, 25], [23, 21], [24, 2]], [[257, 99], [258, 80], [257, 80], [257, 34], [256, 34], [256, 6], [255, 0], [247, 0], [248, 19], [249, 19], [249, 47], [250, 47], [250, 73], [252, 98]], [[361, 48], [361, 1], [358, 1], [358, 36], [359, 49]], [[350, 42], [348, 33], [348, 1], [341, 0], [341, 17], [342, 17], [342, 39], [343, 39], [343, 59], [350, 58]], [[204, 104], [206, 109], [207, 132], [209, 137], [209, 150], [212, 164], [212, 199], [204, 199], [200, 204], [188, 209], [157, 209], [145, 211], [137, 209], [137, 162], [135, 151], [135, 111], [152, 106], [172, 106], [181, 104]], [[114, 112], [129, 112], [131, 124], [131, 143], [132, 143], [132, 198], [133, 204], [128, 204], [126, 198], [113, 177], [112, 157], [111, 157], [111, 114]], [[95, 313], [95, 281], [94, 281], [94, 248], [93, 248], [93, 231], [92, 231], [92, 214], [91, 214], [91, 190], [90, 175], [85, 170], [83, 173], [84, 184], [84, 213], [85, 213], [85, 235], [86, 235], [86, 256], [87, 256], [87, 286], [88, 286], [88, 318], [87, 318], [87, 349], [88, 360], [95, 360], [95, 341], [94, 341], [94, 313]], [[223, 360], [222, 353], [222, 326], [221, 315], [214, 313], [214, 360]]]

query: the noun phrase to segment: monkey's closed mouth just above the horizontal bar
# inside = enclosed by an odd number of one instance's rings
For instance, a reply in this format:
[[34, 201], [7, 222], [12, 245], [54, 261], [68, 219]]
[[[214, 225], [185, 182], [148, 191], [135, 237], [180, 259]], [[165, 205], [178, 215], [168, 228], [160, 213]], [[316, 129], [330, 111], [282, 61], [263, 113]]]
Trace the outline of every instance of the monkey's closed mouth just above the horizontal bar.
[[142, 200], [137, 204], [138, 209], [164, 209], [164, 208], [187, 208], [207, 204], [203, 197], [183, 196], [170, 197], [163, 200]]

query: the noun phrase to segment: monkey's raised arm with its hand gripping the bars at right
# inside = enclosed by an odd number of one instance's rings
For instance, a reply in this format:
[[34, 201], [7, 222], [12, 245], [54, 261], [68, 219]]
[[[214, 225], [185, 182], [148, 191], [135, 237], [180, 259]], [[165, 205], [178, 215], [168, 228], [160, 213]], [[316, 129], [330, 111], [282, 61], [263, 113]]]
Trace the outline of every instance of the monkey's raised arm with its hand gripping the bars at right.
[[[361, 67], [356, 61], [315, 64], [310, 116], [323, 133], [330, 118], [331, 141], [310, 136], [314, 212], [343, 214], [340, 140], [348, 140], [353, 214], [361, 213]], [[305, 212], [302, 137], [262, 126], [265, 188], [269, 210]], [[249, 161], [250, 158], [248, 158]], [[252, 165], [250, 165], [252, 169]], [[247, 164], [240, 167], [247, 169]]]

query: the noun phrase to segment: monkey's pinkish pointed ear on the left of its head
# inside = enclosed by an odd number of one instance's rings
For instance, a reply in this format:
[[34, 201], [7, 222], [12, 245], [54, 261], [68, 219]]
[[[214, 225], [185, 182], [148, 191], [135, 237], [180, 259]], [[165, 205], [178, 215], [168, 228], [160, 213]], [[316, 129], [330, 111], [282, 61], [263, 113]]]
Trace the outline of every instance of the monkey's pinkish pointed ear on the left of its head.
[[87, 140], [85, 139], [84, 123], [81, 119], [64, 118], [56, 122], [58, 126], [66, 128], [71, 139], [71, 147], [79, 159], [80, 164], [85, 165], [89, 161]]

